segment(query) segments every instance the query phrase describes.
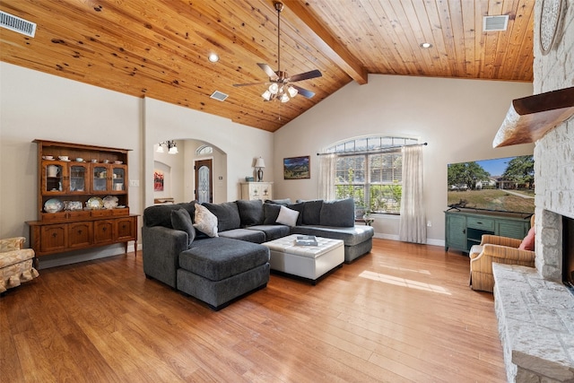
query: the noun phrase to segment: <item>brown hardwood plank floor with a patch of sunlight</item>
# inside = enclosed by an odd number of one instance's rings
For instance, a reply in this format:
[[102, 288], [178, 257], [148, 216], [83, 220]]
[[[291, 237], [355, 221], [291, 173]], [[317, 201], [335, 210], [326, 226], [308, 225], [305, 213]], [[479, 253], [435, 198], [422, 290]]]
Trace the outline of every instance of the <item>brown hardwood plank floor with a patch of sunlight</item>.
[[384, 239], [219, 312], [133, 253], [40, 270], [0, 298], [0, 381], [504, 382], [492, 295], [467, 283], [460, 253]]

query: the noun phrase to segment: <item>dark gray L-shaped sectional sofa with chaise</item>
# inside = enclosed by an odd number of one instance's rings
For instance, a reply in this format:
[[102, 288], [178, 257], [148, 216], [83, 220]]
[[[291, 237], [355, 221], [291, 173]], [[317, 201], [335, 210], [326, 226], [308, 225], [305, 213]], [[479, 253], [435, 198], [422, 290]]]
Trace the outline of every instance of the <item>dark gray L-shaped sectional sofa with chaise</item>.
[[261, 243], [290, 234], [342, 239], [349, 263], [370, 252], [373, 233], [355, 226], [350, 198], [150, 206], [143, 212], [143, 272], [222, 309], [269, 281], [269, 249]]

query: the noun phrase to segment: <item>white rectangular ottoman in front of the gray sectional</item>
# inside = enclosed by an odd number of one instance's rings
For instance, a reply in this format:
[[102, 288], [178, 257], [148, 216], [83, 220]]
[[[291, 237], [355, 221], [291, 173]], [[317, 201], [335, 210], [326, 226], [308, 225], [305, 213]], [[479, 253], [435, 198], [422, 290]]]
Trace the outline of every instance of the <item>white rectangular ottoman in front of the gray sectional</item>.
[[317, 246], [295, 246], [299, 236], [293, 234], [263, 243], [270, 250], [272, 270], [297, 275], [315, 284], [321, 275], [343, 265], [343, 240], [317, 237]]

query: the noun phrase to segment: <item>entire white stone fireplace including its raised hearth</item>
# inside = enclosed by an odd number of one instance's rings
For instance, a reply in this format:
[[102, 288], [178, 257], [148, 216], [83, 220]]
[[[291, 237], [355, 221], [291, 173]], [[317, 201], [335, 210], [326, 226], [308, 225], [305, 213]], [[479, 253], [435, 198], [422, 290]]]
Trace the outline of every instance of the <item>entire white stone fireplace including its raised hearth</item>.
[[[574, 86], [574, 1], [561, 1], [557, 39], [545, 56], [543, 3], [535, 4], [535, 94]], [[574, 246], [562, 223], [574, 219], [574, 118], [535, 142], [535, 179], [535, 268], [492, 266], [500, 340], [509, 381], [574, 382], [574, 295], [561, 282], [564, 247]]]

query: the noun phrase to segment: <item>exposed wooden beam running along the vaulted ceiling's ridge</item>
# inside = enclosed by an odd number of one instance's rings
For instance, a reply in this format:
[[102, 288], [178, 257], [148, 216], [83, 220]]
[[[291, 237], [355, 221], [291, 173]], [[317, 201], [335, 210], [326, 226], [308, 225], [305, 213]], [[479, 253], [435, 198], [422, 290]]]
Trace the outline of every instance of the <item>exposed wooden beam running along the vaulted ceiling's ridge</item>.
[[323, 53], [331, 58], [346, 74], [349, 74], [354, 81], [361, 85], [367, 83], [367, 71], [359, 60], [352, 57], [351, 53], [326, 30], [323, 24], [317, 22], [317, 19], [307, 10], [306, 5], [294, 1], [285, 2], [285, 5], [298, 17], [298, 19], [290, 20], [293, 26], [315, 35], [314, 42], [317, 44], [317, 48], [321, 48]]

